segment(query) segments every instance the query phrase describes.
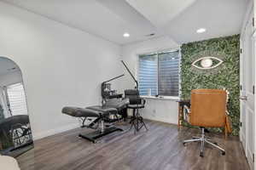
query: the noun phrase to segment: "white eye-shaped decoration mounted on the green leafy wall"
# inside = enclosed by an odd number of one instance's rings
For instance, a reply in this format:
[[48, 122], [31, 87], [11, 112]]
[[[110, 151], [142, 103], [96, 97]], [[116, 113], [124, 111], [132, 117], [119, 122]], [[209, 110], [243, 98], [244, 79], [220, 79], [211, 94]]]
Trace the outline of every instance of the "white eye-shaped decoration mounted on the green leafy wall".
[[217, 57], [202, 57], [200, 59], [196, 59], [192, 65], [195, 66], [195, 68], [201, 69], [201, 70], [208, 70], [218, 67], [218, 65], [221, 65], [223, 63], [222, 59], [218, 59]]

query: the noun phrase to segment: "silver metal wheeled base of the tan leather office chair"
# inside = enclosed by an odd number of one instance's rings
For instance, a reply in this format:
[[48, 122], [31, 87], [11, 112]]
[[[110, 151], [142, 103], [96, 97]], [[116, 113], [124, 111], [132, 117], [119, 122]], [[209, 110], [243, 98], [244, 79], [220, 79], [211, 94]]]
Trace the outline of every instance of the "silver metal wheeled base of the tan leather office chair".
[[222, 155], [225, 155], [225, 150], [221, 147], [218, 146], [218, 144], [216, 142], [211, 142], [212, 139], [207, 139], [205, 137], [205, 128], [201, 128], [201, 137], [193, 137], [193, 139], [188, 139], [188, 140], [184, 140], [183, 144], [187, 144], [190, 142], [201, 142], [201, 147], [200, 147], [200, 156], [203, 157], [204, 156], [204, 148], [205, 148], [205, 144], [210, 144], [213, 147], [217, 148], [218, 150], [221, 151]]

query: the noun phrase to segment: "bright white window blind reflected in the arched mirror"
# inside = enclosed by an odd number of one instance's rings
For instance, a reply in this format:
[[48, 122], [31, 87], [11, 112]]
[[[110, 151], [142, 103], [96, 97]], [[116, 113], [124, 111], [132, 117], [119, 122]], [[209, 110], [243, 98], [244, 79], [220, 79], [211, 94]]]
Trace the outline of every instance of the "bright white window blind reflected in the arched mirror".
[[22, 83], [7, 87], [9, 108], [12, 116], [27, 115], [26, 96]]

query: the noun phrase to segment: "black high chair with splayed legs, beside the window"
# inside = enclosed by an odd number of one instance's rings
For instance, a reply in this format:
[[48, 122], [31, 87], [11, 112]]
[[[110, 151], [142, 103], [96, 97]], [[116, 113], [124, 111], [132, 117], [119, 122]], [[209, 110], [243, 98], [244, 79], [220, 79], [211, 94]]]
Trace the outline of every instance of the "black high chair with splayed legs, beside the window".
[[[145, 122], [143, 121], [143, 116], [140, 116], [139, 109], [145, 107], [146, 100], [140, 98], [139, 91], [137, 89], [127, 89], [125, 90], [125, 99], [129, 99], [128, 109], [133, 110], [133, 115], [131, 117], [131, 128], [134, 127], [134, 133], [138, 132], [142, 127], [148, 130]], [[140, 126], [141, 124], [141, 126]]]

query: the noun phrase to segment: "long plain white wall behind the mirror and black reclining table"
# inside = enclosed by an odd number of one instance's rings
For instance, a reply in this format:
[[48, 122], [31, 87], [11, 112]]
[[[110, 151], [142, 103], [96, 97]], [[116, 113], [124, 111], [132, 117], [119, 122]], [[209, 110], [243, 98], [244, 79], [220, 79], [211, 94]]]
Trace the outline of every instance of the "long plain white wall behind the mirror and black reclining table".
[[35, 139], [78, 127], [61, 108], [99, 104], [100, 83], [122, 73], [112, 42], [1, 2], [0, 23], [0, 56], [20, 66]]

